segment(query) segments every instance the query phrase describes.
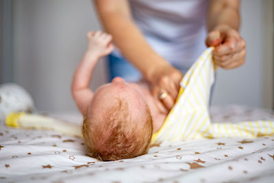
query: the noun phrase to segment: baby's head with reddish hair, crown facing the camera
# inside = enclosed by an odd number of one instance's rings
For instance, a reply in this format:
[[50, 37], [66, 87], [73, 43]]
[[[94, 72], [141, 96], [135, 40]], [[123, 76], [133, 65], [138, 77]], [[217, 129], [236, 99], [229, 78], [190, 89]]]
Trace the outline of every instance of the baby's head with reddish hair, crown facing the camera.
[[138, 87], [115, 77], [97, 89], [83, 123], [91, 157], [119, 160], [146, 154], [152, 132], [151, 113]]

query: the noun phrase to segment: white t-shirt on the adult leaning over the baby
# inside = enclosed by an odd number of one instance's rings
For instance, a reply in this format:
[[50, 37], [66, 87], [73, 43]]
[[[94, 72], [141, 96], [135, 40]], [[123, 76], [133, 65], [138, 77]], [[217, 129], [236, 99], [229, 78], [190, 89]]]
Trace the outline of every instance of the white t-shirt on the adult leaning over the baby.
[[134, 21], [149, 45], [178, 69], [189, 68], [206, 49], [207, 0], [129, 0], [129, 3]]

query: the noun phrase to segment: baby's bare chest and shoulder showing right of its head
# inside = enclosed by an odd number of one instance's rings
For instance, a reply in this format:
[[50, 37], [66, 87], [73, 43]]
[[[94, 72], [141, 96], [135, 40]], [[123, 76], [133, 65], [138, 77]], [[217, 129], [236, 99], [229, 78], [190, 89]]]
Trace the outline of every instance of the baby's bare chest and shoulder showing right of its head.
[[158, 107], [156, 106], [156, 100], [151, 95], [151, 92], [149, 90], [149, 84], [147, 82], [139, 82], [139, 83], [131, 83], [136, 90], [138, 90], [140, 93], [142, 93], [142, 96], [144, 97], [145, 101], [147, 101], [147, 105], [149, 106], [149, 110], [151, 112], [151, 117], [153, 120], [153, 133], [160, 130], [160, 127], [164, 123], [164, 119], [166, 119], [166, 115], [168, 114], [160, 112]]

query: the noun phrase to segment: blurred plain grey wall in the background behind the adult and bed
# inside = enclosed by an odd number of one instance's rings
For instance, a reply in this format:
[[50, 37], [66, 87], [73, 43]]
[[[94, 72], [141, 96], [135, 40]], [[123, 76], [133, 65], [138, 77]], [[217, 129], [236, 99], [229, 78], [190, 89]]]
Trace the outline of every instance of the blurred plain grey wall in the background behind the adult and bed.
[[[5, 20], [10, 19], [0, 36], [1, 50], [6, 53], [5, 57], [0, 54], [1, 82], [25, 87], [38, 110], [77, 110], [70, 90], [73, 71], [86, 49], [86, 33], [101, 29], [92, 2], [0, 1]], [[241, 14], [246, 63], [234, 70], [219, 69], [212, 105], [273, 108], [273, 1], [244, 0]], [[97, 64], [93, 78], [93, 90], [107, 82], [105, 60]]]

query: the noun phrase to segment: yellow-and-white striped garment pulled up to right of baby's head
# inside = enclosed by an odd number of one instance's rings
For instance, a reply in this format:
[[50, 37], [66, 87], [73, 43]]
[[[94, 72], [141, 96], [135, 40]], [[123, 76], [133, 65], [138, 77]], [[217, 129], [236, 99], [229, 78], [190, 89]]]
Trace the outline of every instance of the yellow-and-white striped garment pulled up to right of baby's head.
[[151, 143], [188, 138], [256, 137], [274, 134], [274, 121], [211, 123], [210, 88], [214, 83], [212, 50], [208, 48], [184, 75], [175, 106]]

